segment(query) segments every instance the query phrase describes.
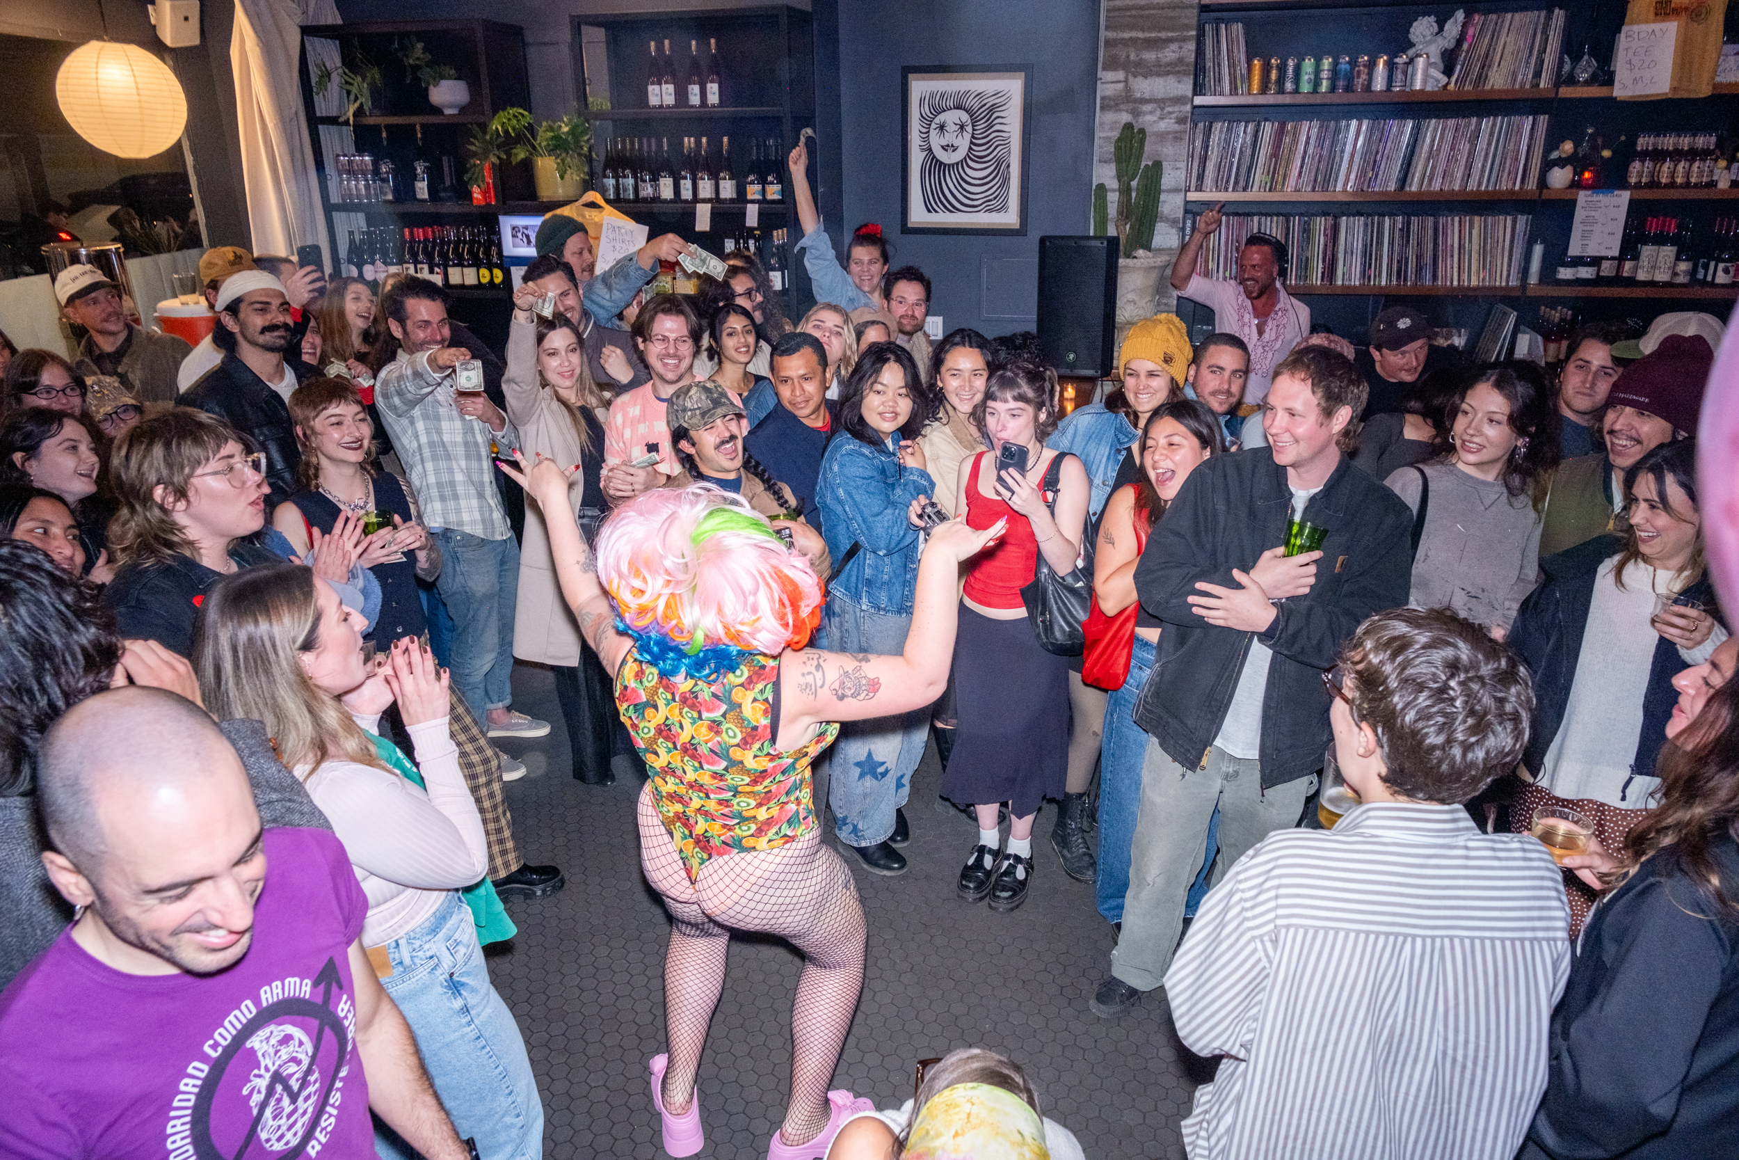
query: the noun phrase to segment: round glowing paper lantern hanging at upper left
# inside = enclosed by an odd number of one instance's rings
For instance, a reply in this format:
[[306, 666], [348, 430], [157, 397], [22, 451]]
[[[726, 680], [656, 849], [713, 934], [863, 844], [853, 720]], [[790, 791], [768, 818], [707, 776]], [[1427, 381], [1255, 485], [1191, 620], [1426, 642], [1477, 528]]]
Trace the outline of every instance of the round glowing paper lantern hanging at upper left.
[[181, 139], [188, 97], [160, 59], [132, 43], [92, 40], [54, 78], [73, 130], [115, 157], [155, 157]]

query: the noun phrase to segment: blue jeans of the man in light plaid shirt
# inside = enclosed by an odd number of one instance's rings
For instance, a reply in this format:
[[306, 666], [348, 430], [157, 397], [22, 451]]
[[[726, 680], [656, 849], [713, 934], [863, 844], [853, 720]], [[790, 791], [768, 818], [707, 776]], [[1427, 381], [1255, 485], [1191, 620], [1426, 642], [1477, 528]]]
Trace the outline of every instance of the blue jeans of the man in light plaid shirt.
[[513, 703], [513, 605], [520, 597], [520, 546], [511, 536], [483, 539], [443, 527], [435, 532], [442, 570], [435, 586], [452, 616], [447, 668], [471, 717], [489, 729], [489, 710]]

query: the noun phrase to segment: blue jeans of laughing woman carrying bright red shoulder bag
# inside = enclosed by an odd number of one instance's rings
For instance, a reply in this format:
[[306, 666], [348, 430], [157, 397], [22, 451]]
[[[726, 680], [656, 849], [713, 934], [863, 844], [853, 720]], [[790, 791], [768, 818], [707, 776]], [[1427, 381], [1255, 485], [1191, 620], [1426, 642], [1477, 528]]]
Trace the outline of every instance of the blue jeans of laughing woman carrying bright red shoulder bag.
[[[1123, 896], [1129, 892], [1129, 852], [1136, 843], [1136, 816], [1141, 812], [1141, 762], [1148, 753], [1148, 730], [1136, 723], [1136, 697], [1153, 671], [1156, 645], [1136, 637], [1129, 661], [1129, 678], [1104, 704], [1104, 739], [1099, 743], [1099, 870], [1094, 878], [1094, 903], [1106, 922], [1123, 920]], [[1207, 871], [1219, 852], [1219, 805], [1207, 823], [1207, 857], [1189, 883], [1184, 917], [1193, 918], [1207, 897]]]

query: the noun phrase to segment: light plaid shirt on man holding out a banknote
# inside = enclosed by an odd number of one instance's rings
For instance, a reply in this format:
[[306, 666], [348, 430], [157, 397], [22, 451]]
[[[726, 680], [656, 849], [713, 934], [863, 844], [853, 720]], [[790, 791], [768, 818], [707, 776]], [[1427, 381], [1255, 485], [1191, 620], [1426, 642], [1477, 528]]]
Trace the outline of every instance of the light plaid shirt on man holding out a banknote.
[[[410, 471], [410, 485], [431, 529], [506, 539], [513, 529], [496, 490], [494, 459], [518, 447], [520, 433], [511, 421], [496, 433], [454, 410], [454, 372], [433, 370], [431, 353], [398, 351], [395, 362], [381, 367], [374, 398], [386, 433]], [[501, 449], [499, 456], [490, 443]]]

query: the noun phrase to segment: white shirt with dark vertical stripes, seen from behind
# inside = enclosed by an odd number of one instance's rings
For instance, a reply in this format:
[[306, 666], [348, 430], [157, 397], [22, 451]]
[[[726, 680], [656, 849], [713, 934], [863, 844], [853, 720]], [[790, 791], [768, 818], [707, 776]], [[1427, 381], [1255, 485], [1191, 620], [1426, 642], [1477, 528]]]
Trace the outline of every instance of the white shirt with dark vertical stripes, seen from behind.
[[1191, 1160], [1509, 1160], [1570, 970], [1558, 868], [1459, 805], [1353, 807], [1271, 833], [1165, 976], [1189, 1050], [1226, 1056]]

